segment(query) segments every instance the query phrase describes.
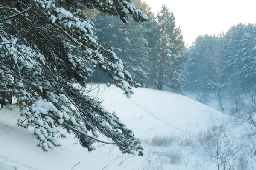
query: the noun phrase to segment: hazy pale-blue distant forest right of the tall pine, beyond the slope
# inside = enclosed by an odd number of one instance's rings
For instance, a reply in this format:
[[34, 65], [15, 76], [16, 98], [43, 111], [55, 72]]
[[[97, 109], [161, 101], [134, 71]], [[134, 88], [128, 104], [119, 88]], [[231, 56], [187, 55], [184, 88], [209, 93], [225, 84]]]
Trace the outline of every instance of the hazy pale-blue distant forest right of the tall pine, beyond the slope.
[[[218, 93], [236, 100], [256, 85], [256, 25], [239, 23], [226, 33], [198, 36], [188, 50], [185, 90]], [[237, 102], [235, 102], [237, 111]]]

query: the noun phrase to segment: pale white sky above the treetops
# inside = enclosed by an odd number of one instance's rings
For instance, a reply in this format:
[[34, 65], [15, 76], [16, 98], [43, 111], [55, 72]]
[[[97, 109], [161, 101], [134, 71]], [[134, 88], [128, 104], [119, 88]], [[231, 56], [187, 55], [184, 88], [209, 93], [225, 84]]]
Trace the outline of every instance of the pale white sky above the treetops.
[[226, 32], [237, 23], [256, 23], [256, 0], [144, 0], [156, 14], [165, 4], [174, 13], [184, 41]]

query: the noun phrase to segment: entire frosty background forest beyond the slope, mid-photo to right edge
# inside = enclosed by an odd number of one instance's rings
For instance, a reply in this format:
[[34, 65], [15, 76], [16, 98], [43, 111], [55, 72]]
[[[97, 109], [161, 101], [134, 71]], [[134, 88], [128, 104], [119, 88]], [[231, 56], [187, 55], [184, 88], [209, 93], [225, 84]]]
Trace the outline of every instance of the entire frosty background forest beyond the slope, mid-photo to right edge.
[[[154, 16], [145, 2], [134, 0], [134, 4], [145, 11], [147, 22], [122, 23], [99, 11], [90, 15], [99, 42], [113, 48], [143, 87], [214, 92], [223, 110], [224, 91], [234, 99], [255, 86], [255, 24], [240, 23], [226, 33], [200, 35], [187, 47], [174, 14], [165, 5]], [[110, 81], [99, 69], [93, 71], [89, 82]]]

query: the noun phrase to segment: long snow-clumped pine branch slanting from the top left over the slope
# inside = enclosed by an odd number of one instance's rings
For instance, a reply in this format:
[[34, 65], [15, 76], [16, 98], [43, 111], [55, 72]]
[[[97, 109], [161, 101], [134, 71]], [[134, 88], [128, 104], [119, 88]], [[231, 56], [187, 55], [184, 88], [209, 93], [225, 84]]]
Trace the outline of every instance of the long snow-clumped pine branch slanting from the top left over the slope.
[[[37, 8], [43, 9], [44, 20], [61, 31], [62, 34], [66, 35], [74, 45], [81, 48], [84, 51], [84, 55], [87, 56], [85, 58], [87, 61], [93, 61], [94, 65], [98, 65], [99, 69], [112, 77], [113, 81], [118, 87], [125, 91], [128, 97], [133, 94], [131, 88], [132, 79], [122, 76], [124, 75], [122, 61], [110, 49], [106, 50], [105, 48], [101, 48], [99, 52], [100, 46], [96, 41], [97, 37], [93, 33], [93, 26], [90, 22], [81, 21], [64, 8], [58, 8], [50, 1], [44, 1], [44, 3], [42, 3], [41, 1], [35, 0], [34, 2]], [[36, 14], [35, 12], [33, 13]], [[72, 36], [77, 33], [80, 34], [79, 37]], [[92, 48], [98, 48], [98, 50], [93, 50]], [[134, 86], [137, 87], [137, 84], [134, 84]]]

